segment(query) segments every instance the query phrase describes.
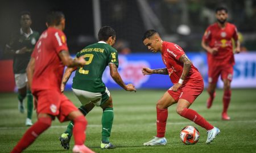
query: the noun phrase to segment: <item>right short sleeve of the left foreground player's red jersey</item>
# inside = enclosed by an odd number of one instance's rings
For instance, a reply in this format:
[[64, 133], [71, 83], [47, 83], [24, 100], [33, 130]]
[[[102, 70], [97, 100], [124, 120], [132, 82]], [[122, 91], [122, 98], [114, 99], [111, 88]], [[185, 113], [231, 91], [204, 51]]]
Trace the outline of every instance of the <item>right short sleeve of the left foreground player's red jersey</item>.
[[53, 45], [57, 54], [59, 54], [61, 50], [68, 50], [67, 39], [63, 32], [56, 31], [54, 33]]

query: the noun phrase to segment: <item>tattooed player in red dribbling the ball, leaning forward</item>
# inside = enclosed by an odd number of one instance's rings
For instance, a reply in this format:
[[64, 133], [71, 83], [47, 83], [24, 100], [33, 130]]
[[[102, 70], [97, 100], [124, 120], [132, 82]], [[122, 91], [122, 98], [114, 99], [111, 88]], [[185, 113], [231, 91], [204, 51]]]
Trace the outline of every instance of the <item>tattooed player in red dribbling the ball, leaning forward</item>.
[[157, 135], [154, 139], [143, 145], [166, 145], [167, 140], [164, 138], [164, 134], [166, 133], [168, 107], [175, 103], [177, 103], [176, 112], [180, 116], [205, 128], [208, 131], [206, 143], [212, 142], [216, 135], [220, 133], [220, 130], [209, 124], [209, 122], [196, 111], [189, 109], [196, 97], [204, 90], [203, 78], [199, 71], [193, 66], [180, 46], [172, 42], [163, 41], [158, 32], [153, 29], [144, 33], [143, 44], [146, 45], [151, 52], [160, 52], [166, 67], [154, 70], [143, 67], [142, 73], [144, 75], [168, 74], [171, 82], [174, 83], [156, 103]]

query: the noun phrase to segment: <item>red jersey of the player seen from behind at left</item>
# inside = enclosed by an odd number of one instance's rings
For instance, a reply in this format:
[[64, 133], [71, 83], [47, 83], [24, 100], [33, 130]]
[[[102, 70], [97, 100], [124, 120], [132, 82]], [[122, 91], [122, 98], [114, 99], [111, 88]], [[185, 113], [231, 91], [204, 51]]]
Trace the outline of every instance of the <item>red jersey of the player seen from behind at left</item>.
[[40, 36], [31, 55], [35, 58], [32, 92], [60, 91], [64, 71], [64, 65], [59, 57], [61, 50], [68, 50], [65, 34], [59, 29], [49, 27]]

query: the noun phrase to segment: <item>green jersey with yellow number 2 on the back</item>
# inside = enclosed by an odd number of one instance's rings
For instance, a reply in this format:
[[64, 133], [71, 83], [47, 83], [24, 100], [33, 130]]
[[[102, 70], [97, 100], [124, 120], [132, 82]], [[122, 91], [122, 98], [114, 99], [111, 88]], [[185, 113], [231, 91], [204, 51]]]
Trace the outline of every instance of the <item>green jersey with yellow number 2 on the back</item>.
[[118, 53], [112, 46], [103, 41], [86, 46], [76, 54], [83, 56], [86, 63], [78, 67], [73, 78], [72, 88], [89, 92], [105, 92], [106, 86], [102, 82], [102, 74], [109, 63], [118, 67]]

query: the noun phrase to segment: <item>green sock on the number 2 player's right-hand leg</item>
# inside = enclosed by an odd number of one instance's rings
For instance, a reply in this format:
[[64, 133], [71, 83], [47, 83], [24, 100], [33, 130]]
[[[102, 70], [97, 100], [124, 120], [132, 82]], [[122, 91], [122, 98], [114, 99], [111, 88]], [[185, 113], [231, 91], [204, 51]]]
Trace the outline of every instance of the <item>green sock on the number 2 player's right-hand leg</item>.
[[103, 111], [101, 124], [102, 124], [102, 143], [109, 143], [110, 132], [112, 129], [114, 119], [114, 111], [113, 108], [106, 108]]

